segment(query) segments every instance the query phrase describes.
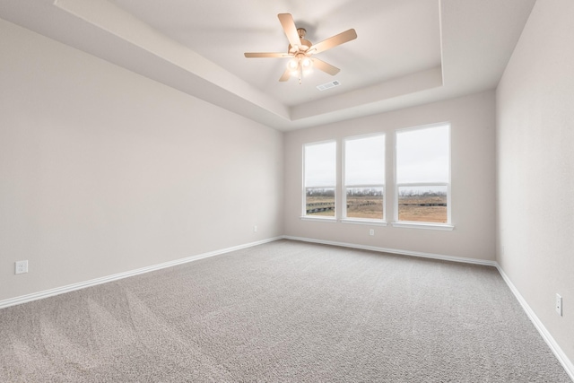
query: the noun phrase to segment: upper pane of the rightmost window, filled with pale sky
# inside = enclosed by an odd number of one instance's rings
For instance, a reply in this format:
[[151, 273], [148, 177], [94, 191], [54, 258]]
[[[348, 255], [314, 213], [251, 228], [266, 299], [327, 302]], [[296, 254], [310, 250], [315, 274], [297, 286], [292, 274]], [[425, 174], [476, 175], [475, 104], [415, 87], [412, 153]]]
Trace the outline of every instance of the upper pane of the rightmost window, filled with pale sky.
[[448, 125], [396, 133], [396, 182], [448, 182]]

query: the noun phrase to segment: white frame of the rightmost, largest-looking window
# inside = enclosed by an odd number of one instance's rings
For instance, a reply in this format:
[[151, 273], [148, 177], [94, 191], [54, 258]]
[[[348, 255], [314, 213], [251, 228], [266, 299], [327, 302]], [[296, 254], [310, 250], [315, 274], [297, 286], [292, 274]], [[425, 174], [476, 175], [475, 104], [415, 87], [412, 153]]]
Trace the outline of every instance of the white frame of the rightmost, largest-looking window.
[[[448, 182], [437, 181], [437, 182], [409, 182], [409, 183], [398, 183], [396, 182], [398, 169], [397, 169], [397, 155], [398, 148], [396, 139], [397, 135], [405, 131], [422, 130], [437, 126], [448, 126]], [[397, 129], [395, 131], [395, 166], [394, 166], [394, 178], [395, 178], [395, 206], [394, 206], [394, 222], [392, 222], [393, 227], [403, 227], [403, 228], [413, 228], [413, 229], [431, 229], [431, 230], [441, 230], [441, 231], [452, 231], [455, 226], [452, 224], [452, 204], [451, 204], [451, 163], [452, 163], [452, 126], [449, 122], [441, 122], [437, 124], [430, 124], [424, 126], [413, 126], [406, 127], [403, 129]], [[399, 221], [398, 220], [398, 208], [399, 208], [399, 188], [400, 187], [447, 187], [447, 222], [419, 222], [419, 221]]]

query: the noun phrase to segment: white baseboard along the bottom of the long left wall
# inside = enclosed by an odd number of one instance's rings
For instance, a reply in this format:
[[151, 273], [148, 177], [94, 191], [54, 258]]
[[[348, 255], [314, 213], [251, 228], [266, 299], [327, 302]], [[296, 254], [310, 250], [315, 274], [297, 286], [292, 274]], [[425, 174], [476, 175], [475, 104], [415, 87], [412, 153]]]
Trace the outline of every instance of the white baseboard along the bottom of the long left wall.
[[222, 255], [225, 253], [230, 253], [231, 251], [240, 250], [242, 248], [252, 248], [254, 246], [262, 245], [262, 244], [267, 243], [267, 242], [273, 242], [274, 240], [278, 240], [278, 239], [282, 239], [282, 238], [283, 237], [275, 237], [275, 238], [270, 238], [270, 239], [259, 240], [257, 242], [250, 242], [250, 243], [247, 243], [244, 245], [234, 246], [231, 248], [223, 248], [220, 250], [210, 251], [208, 253], [198, 254], [196, 256], [180, 258], [180, 259], [176, 259], [174, 261], [164, 262], [164, 263], [161, 263], [158, 265], [151, 265], [151, 266], [147, 266], [147, 267], [142, 267], [142, 268], [130, 270], [130, 271], [127, 271], [124, 273], [113, 274], [113, 275], [108, 275], [108, 276], [104, 276], [101, 278], [91, 279], [90, 281], [68, 284], [66, 286], [57, 287], [55, 289], [45, 290], [43, 292], [33, 292], [31, 294], [22, 295], [20, 297], [10, 298], [7, 300], [0, 300], [0, 309], [4, 309], [4, 308], [10, 307], [10, 306], [19, 305], [19, 304], [26, 303], [26, 302], [30, 302], [32, 300], [41, 300], [44, 298], [53, 297], [54, 295], [63, 294], [65, 292], [74, 292], [75, 290], [84, 289], [86, 287], [95, 286], [95, 285], [101, 284], [101, 283], [108, 283], [108, 282], [117, 281], [118, 279], [127, 278], [129, 276], [149, 273], [149, 272], [152, 272], [155, 270], [161, 270], [162, 268], [166, 268], [166, 267], [186, 264], [187, 262], [193, 262], [193, 261], [196, 261], [198, 259], [203, 259], [203, 258], [213, 257], [213, 256], [219, 256], [219, 255]]

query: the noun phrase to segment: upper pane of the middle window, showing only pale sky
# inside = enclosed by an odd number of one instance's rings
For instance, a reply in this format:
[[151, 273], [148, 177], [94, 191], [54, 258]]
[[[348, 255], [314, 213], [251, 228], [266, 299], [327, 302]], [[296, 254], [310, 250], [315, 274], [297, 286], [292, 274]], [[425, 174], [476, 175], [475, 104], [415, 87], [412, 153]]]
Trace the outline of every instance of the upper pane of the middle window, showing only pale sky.
[[384, 135], [345, 140], [344, 184], [385, 184]]

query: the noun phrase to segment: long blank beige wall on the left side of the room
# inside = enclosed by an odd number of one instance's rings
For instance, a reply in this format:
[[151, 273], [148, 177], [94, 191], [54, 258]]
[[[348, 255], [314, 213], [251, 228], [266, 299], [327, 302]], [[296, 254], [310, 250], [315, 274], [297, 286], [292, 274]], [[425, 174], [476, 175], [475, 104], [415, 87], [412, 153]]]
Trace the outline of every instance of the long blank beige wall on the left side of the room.
[[283, 234], [280, 132], [2, 20], [0, 36], [0, 300]]

